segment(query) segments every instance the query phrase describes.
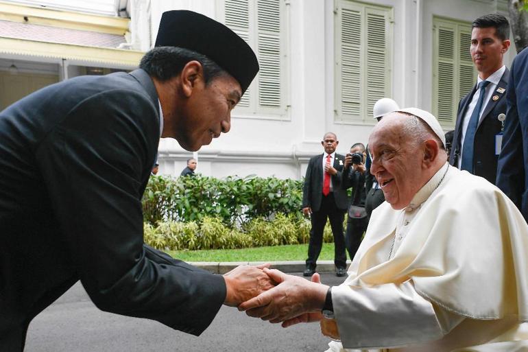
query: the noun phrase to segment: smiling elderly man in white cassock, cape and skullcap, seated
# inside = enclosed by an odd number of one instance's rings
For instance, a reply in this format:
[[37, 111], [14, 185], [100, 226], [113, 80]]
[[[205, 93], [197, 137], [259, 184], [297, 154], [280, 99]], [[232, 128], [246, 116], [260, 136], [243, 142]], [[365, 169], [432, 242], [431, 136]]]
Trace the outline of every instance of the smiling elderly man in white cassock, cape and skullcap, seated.
[[[386, 115], [370, 135], [385, 194], [333, 288], [279, 284], [239, 309], [284, 327], [320, 321], [328, 351], [528, 351], [528, 225], [484, 178], [448, 165], [437, 119]], [[324, 314], [323, 314], [324, 313]]]

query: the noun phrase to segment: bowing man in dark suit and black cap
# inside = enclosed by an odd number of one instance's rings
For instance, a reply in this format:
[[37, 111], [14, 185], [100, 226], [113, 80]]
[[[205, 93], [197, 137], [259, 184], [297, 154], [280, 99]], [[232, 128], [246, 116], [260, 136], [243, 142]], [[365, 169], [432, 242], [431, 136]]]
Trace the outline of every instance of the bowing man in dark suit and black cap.
[[226, 26], [165, 12], [132, 73], [53, 84], [0, 113], [0, 351], [76, 281], [107, 312], [199, 335], [222, 304], [272, 287], [258, 267], [221, 276], [143, 243], [141, 197], [158, 141], [195, 151], [230, 129], [256, 75]]

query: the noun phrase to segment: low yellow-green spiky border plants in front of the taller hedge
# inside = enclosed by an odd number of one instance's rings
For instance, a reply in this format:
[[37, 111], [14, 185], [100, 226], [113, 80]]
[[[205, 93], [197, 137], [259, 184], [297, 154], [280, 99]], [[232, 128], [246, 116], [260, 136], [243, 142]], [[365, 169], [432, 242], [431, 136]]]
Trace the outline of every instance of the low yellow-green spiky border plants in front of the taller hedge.
[[[278, 213], [273, 220], [252, 219], [232, 228], [220, 218], [203, 217], [200, 221], [145, 222], [145, 243], [161, 250], [235, 249], [282, 244], [304, 244], [310, 238], [310, 222], [293, 215]], [[324, 242], [333, 242], [327, 222]]]

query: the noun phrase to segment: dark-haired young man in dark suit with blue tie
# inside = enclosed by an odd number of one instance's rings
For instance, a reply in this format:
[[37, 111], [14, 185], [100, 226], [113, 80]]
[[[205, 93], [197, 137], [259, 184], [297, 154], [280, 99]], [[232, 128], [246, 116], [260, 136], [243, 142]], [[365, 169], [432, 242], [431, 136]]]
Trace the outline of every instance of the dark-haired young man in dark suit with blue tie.
[[[449, 163], [495, 183], [501, 152], [508, 69], [509, 23], [500, 14], [487, 14], [472, 23], [470, 54], [479, 78], [461, 99]], [[501, 121], [502, 120], [502, 121]]]

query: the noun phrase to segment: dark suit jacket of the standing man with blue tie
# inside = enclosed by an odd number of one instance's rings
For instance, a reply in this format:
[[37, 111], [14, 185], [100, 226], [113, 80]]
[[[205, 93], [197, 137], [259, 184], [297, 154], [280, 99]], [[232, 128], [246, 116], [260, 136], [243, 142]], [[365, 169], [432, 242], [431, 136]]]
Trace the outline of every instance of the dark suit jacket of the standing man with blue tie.
[[[508, 76], [509, 70], [506, 69], [492, 97], [485, 106], [479, 125], [477, 126], [477, 131], [475, 132], [473, 174], [485, 178], [490, 183], [495, 183], [497, 160], [499, 159], [499, 156], [495, 154], [495, 135], [501, 132], [502, 124], [497, 117], [500, 114], [506, 113], [506, 91], [499, 93], [497, 89], [507, 89]], [[457, 124], [453, 134], [453, 146], [449, 156], [449, 163], [451, 165], [457, 165], [457, 160], [461, 154], [462, 120], [476, 90], [477, 86], [475, 85], [473, 90], [462, 98], [459, 103]], [[498, 96], [499, 99], [494, 100], [494, 96]]]

